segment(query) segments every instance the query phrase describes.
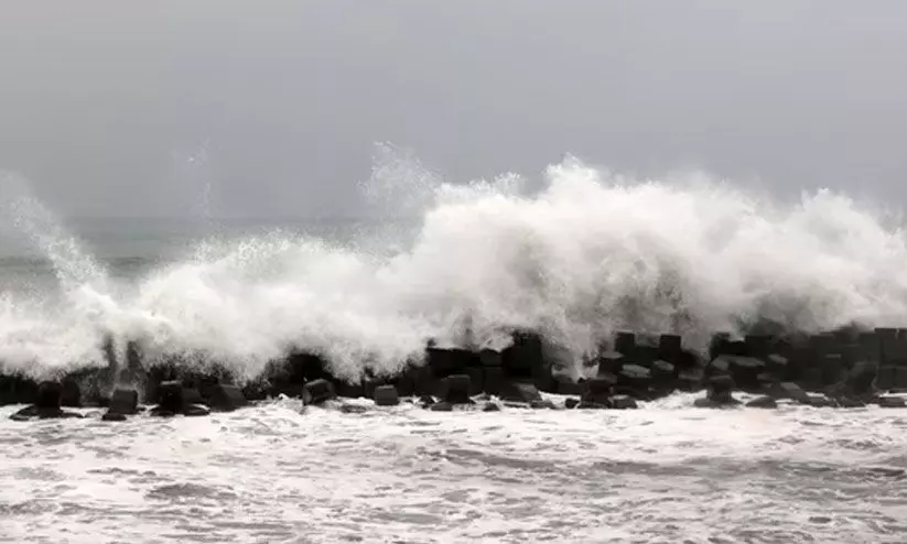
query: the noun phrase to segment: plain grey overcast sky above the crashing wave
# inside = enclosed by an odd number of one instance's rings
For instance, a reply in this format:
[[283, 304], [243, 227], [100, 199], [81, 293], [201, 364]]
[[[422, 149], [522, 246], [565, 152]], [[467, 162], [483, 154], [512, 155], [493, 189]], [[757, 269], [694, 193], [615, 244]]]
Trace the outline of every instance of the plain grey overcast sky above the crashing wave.
[[899, 0], [0, 2], [0, 168], [66, 215], [186, 213], [204, 141], [227, 216], [350, 213], [375, 141], [907, 197]]

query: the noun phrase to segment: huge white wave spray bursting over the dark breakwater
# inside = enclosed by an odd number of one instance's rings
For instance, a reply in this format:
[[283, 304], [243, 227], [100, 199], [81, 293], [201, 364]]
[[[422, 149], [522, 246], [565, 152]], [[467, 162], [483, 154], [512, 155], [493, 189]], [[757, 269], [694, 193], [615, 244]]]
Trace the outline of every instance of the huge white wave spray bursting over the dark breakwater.
[[[633, 179], [574, 159], [532, 191], [518, 175], [456, 185], [382, 148], [365, 193], [409, 228], [337, 241], [213, 236], [112, 278], [30, 196], [3, 183], [7, 227], [51, 262], [55, 289], [0, 294], [0, 360], [34, 376], [102, 358], [102, 335], [245, 376], [300, 347], [341, 376], [392, 371], [444, 345], [529, 327], [568, 363], [617, 329], [684, 335], [757, 319], [802, 330], [905, 325], [907, 243], [844, 195], [782, 205], [702, 176]], [[24, 187], [24, 188], [23, 188]]]

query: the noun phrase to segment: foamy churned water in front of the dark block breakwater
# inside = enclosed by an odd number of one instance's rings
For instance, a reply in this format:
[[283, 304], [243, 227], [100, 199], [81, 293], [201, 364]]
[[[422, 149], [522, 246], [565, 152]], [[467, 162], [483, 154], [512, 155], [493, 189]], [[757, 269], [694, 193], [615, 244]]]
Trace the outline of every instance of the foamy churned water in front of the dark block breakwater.
[[[900, 411], [689, 407], [15, 423], [6, 542], [900, 542]], [[369, 404], [368, 402], [365, 404]]]

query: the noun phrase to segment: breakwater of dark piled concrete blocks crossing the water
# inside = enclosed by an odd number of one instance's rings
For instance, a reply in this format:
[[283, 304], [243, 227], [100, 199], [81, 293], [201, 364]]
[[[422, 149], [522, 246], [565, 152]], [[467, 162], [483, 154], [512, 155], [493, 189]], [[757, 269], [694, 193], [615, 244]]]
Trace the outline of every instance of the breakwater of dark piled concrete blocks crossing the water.
[[907, 391], [907, 329], [849, 328], [736, 339], [716, 334], [708, 352], [687, 349], [677, 335], [620, 333], [584, 361], [579, 379], [548, 357], [541, 336], [518, 331], [512, 338], [503, 351], [445, 349], [430, 342], [424, 360], [411, 361], [399, 374], [365, 373], [354, 382], [336, 379], [322, 357], [294, 352], [241, 388], [216, 365], [199, 370], [180, 360], [143, 361], [132, 342], [122, 363], [110, 350], [106, 366], [57, 381], [39, 384], [0, 374], [0, 404], [31, 404], [15, 418], [73, 415], [63, 406], [104, 406], [105, 418], [117, 421], [139, 413], [140, 401], [156, 403], [154, 415], [205, 415], [242, 407], [247, 399], [278, 395], [301, 398], [305, 405], [364, 396], [379, 406], [395, 406], [401, 398], [412, 398], [443, 412], [473, 405], [479, 395], [484, 410], [499, 409], [489, 402], [492, 395], [506, 405], [554, 407], [541, 393], [571, 396], [566, 407], [620, 410], [676, 391], [703, 391], [695, 402], [701, 407], [739, 405], [738, 392], [762, 395], [747, 403], [752, 407], [775, 407], [781, 400], [812, 406], [901, 407], [900, 398], [882, 393]]

